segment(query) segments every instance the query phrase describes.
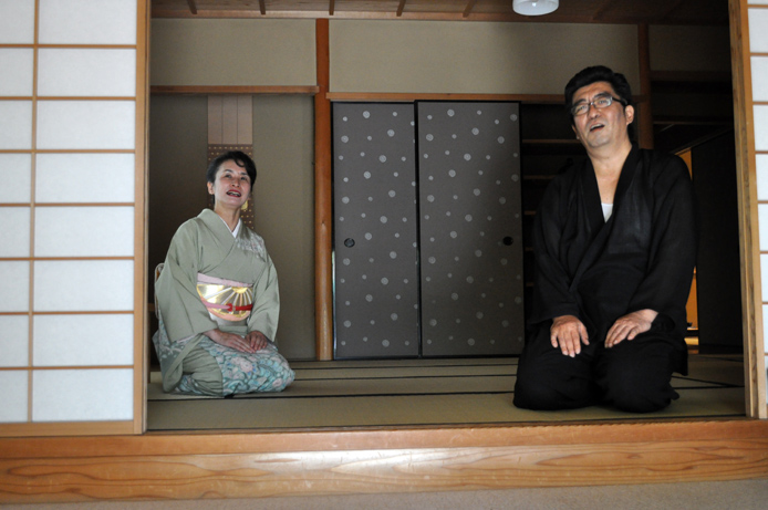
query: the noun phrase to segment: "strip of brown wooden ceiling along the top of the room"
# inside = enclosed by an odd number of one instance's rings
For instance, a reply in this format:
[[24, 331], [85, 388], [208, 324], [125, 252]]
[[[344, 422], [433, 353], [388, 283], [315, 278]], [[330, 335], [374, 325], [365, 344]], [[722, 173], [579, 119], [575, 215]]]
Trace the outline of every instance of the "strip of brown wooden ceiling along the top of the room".
[[152, 0], [153, 18], [330, 18], [727, 25], [728, 0], [560, 0], [526, 17], [512, 0]]

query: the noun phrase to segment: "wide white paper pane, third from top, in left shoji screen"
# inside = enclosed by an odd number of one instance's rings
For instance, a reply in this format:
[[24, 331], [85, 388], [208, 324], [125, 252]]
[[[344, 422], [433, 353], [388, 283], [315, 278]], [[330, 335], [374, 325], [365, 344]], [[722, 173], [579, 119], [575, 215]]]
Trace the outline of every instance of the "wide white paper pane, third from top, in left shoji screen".
[[38, 148], [133, 149], [133, 101], [38, 102]]

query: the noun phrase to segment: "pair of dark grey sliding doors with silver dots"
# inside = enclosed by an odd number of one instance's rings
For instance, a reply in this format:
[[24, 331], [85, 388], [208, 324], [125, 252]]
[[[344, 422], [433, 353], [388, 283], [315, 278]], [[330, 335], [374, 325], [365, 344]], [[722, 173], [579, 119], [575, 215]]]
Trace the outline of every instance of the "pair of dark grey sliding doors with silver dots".
[[522, 348], [516, 103], [333, 110], [335, 357]]

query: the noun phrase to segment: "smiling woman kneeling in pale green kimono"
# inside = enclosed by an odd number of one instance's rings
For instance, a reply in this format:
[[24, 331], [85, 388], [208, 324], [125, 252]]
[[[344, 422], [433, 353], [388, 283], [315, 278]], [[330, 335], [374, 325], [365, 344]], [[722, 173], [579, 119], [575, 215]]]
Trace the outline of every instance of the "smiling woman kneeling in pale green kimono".
[[280, 392], [293, 371], [274, 345], [278, 275], [263, 240], [240, 221], [256, 165], [241, 152], [206, 174], [214, 210], [176, 231], [155, 283], [153, 337], [163, 389], [196, 395]]

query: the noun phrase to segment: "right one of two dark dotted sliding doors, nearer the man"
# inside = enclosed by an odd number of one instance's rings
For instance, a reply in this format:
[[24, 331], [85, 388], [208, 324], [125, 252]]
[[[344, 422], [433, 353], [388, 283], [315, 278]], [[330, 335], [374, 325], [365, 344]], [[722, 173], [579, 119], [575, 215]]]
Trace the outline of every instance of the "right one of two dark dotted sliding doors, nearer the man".
[[517, 103], [418, 103], [422, 353], [522, 348]]

